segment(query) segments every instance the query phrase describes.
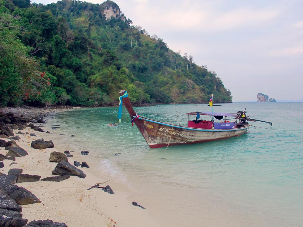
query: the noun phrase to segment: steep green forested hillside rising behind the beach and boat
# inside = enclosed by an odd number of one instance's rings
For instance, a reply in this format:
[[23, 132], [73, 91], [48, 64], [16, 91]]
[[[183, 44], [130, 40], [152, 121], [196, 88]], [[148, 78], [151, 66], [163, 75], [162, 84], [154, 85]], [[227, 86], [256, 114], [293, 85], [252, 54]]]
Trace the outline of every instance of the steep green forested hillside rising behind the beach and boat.
[[215, 72], [132, 26], [112, 1], [0, 0], [0, 50], [1, 106], [114, 105], [121, 89], [137, 104], [231, 102]]

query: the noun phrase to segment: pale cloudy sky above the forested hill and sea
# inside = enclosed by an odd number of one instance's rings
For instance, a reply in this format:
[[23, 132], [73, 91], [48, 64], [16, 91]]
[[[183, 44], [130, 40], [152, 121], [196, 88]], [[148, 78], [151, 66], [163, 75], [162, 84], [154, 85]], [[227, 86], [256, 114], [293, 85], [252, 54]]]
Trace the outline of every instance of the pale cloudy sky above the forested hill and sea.
[[215, 71], [233, 101], [257, 100], [258, 92], [278, 100], [303, 98], [302, 0], [114, 2], [133, 25]]

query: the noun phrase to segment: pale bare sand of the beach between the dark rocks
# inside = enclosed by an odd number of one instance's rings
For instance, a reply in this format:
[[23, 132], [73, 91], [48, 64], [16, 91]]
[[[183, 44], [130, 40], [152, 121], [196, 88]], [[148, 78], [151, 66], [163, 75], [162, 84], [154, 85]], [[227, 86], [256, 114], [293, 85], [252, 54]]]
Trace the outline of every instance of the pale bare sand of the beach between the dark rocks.
[[[43, 113], [47, 114], [53, 111], [44, 110]], [[42, 138], [45, 132], [39, 133], [28, 127], [21, 131], [25, 134], [16, 134], [18, 131], [13, 130], [14, 134], [21, 138], [16, 140], [16, 143], [25, 149], [28, 155], [16, 157], [16, 161], [4, 160], [4, 168], [1, 168], [0, 172], [7, 174], [12, 168], [20, 168], [23, 169], [24, 174], [39, 175], [41, 179], [56, 176], [52, 175], [52, 170], [55, 169], [57, 163], [49, 162], [49, 154], [53, 151], [64, 152], [64, 148], [58, 150], [55, 141], [53, 141], [55, 145], [53, 148], [34, 149], [31, 147], [31, 142]], [[30, 136], [30, 133], [35, 133], [37, 136]], [[48, 137], [51, 137], [51, 134]], [[9, 141], [6, 138], [1, 139]], [[5, 155], [7, 150], [1, 147], [0, 153]], [[72, 154], [73, 157], [68, 157], [68, 162], [71, 164], [74, 163], [74, 160], [79, 162], [85, 160], [85, 156], [81, 153], [73, 152]], [[11, 163], [16, 164], [10, 165]], [[94, 166], [90, 166], [90, 168], [79, 166], [78, 168], [86, 174], [85, 179], [70, 176], [69, 179], [60, 182], [16, 183], [16, 185], [31, 191], [42, 201], [41, 203], [22, 206], [23, 218], [28, 219], [28, 222], [34, 219], [51, 219], [54, 222], [64, 222], [69, 227], [158, 226], [158, 223], [151, 219], [148, 209], [133, 206], [132, 201], [126, 199], [130, 194], [130, 189], [124, 184], [116, 182], [115, 179], [110, 179], [109, 176], [97, 175]], [[109, 185], [114, 194], [109, 194], [99, 188], [87, 190], [96, 183], [100, 183], [102, 187]], [[140, 201], [136, 202], [140, 204]]]

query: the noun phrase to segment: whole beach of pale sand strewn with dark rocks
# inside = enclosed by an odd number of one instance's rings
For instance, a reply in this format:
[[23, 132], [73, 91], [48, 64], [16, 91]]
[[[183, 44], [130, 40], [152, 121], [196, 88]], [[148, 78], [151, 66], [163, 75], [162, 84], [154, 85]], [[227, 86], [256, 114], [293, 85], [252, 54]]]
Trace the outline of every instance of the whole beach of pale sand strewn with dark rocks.
[[144, 207], [125, 200], [124, 184], [88, 166], [88, 151], [54, 147], [43, 119], [69, 109], [74, 108], [0, 109], [0, 227], [156, 226], [140, 211]]

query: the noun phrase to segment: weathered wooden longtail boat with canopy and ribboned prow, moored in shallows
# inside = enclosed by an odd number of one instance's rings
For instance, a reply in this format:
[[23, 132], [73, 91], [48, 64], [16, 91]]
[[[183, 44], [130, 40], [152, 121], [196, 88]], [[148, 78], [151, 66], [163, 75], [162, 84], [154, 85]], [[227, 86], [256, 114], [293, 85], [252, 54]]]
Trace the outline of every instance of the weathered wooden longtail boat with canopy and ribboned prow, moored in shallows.
[[[122, 102], [126, 107], [132, 123], [138, 127], [150, 148], [159, 148], [173, 145], [202, 143], [213, 140], [222, 140], [243, 135], [249, 130], [248, 121], [261, 121], [246, 116], [246, 111], [237, 113], [209, 113], [191, 112], [188, 114], [188, 125], [180, 126], [141, 117], [132, 107], [126, 90], [119, 92], [119, 122], [122, 114]], [[191, 115], [196, 116], [190, 120]], [[211, 116], [211, 120], [202, 120], [200, 116]], [[226, 117], [233, 117], [234, 121], [227, 121]], [[208, 117], [210, 118], [210, 117]], [[222, 120], [215, 122], [215, 119]], [[225, 120], [224, 120], [225, 119]], [[271, 122], [266, 122], [272, 125]]]

